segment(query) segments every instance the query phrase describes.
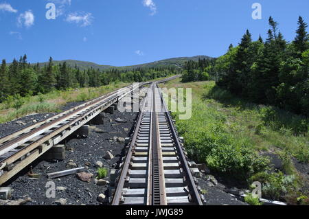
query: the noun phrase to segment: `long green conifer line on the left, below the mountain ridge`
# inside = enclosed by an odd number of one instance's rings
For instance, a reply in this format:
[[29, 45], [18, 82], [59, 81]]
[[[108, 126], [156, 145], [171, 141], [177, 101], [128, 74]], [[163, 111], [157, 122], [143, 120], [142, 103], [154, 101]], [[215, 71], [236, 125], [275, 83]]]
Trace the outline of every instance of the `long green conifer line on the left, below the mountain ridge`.
[[53, 59], [44, 67], [31, 65], [27, 56], [14, 59], [10, 65], [2, 60], [0, 66], [0, 102], [12, 96], [36, 95], [49, 93], [55, 89], [75, 89], [82, 87], [100, 87], [112, 82], [143, 82], [179, 73], [176, 67], [158, 67], [147, 69], [99, 69], [80, 70], [77, 66], [70, 67], [67, 62], [54, 65]]

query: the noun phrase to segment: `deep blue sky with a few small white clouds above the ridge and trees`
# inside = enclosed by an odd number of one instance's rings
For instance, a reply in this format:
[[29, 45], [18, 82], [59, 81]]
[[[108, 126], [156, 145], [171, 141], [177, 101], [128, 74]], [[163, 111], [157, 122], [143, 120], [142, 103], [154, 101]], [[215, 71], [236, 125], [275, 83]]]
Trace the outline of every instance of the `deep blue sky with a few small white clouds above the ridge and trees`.
[[[251, 6], [262, 5], [262, 20]], [[47, 20], [47, 3], [56, 19]], [[225, 54], [249, 29], [266, 38], [273, 16], [287, 41], [297, 19], [309, 23], [308, 0], [0, 0], [0, 59], [76, 59], [136, 65], [164, 58]]]

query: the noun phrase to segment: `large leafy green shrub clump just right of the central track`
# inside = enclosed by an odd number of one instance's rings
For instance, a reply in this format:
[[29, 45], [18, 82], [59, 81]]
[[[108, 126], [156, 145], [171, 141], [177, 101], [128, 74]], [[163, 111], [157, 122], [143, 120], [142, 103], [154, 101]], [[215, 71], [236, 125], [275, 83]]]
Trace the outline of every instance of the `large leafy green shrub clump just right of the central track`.
[[225, 124], [225, 115], [203, 104], [193, 107], [192, 119], [176, 122], [193, 159], [207, 163], [215, 172], [243, 181], [266, 170], [269, 160], [254, 152], [246, 138], [235, 138]]

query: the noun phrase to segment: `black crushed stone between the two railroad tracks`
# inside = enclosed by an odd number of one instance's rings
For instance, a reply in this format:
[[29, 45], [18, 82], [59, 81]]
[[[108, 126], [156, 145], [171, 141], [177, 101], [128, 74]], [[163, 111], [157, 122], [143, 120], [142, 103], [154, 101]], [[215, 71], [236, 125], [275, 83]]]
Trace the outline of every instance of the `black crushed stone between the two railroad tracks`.
[[[104, 167], [108, 169], [108, 176], [104, 179], [109, 181], [109, 172], [116, 167], [124, 155], [124, 143], [116, 141], [109, 142], [109, 139], [113, 137], [128, 137], [131, 128], [133, 128], [137, 113], [119, 113], [115, 111], [113, 115], [106, 114], [106, 116], [108, 118], [105, 119], [105, 124], [96, 126], [106, 132], [97, 133], [91, 130], [87, 138], [67, 139], [66, 148], [71, 148], [72, 150], [66, 150], [65, 161], [58, 161], [58, 163], [36, 161], [32, 163], [33, 172], [41, 174], [40, 178], [35, 180], [30, 179], [27, 176], [30, 167], [27, 167], [19, 176], [15, 177], [11, 182], [8, 182], [6, 186], [14, 189], [12, 199], [15, 200], [29, 196], [33, 201], [26, 205], [56, 205], [54, 201], [59, 198], [65, 198], [67, 205], [100, 205], [96, 199], [99, 194], [108, 196], [107, 185], [98, 186], [94, 180], [91, 183], [80, 181], [76, 174], [50, 180], [47, 179], [47, 173], [67, 170], [66, 164], [70, 160], [73, 160], [78, 167], [87, 168], [85, 172], [92, 173], [95, 177], [97, 172], [95, 162], [101, 161]], [[115, 123], [115, 119], [118, 117], [125, 119], [127, 122], [124, 124]], [[113, 121], [110, 122], [109, 119]], [[124, 131], [124, 128], [128, 128], [129, 131]], [[110, 151], [115, 158], [112, 160], [104, 159], [103, 157], [107, 151]], [[91, 163], [91, 166], [87, 167], [85, 165], [87, 162]], [[45, 193], [47, 189], [45, 185], [48, 181], [53, 181], [56, 187], [65, 187], [65, 191], [56, 192], [56, 198], [46, 198]]]

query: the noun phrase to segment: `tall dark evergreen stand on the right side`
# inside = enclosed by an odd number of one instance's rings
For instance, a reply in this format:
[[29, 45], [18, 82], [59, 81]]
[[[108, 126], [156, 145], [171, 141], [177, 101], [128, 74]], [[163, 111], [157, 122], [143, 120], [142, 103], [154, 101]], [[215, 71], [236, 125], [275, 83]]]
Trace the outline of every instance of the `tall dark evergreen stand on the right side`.
[[288, 43], [279, 32], [278, 23], [272, 17], [268, 21], [270, 29], [265, 41], [261, 36], [253, 41], [247, 30], [240, 44], [230, 45], [227, 54], [215, 63], [210, 61], [202, 67], [198, 62], [187, 62], [186, 66], [191, 68], [183, 72], [183, 77], [187, 81], [203, 80], [211, 73], [218, 86], [240, 97], [308, 116], [308, 25], [299, 16], [297, 36]]

